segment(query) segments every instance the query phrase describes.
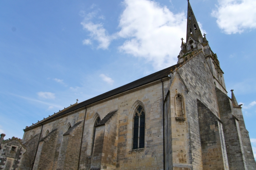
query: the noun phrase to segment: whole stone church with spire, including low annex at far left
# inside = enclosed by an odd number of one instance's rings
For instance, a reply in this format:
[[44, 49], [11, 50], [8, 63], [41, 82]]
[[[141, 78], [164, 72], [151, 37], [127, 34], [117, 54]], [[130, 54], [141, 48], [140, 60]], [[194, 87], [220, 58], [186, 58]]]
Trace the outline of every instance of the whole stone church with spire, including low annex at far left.
[[256, 170], [242, 107], [188, 1], [176, 65], [0, 140], [4, 170]]

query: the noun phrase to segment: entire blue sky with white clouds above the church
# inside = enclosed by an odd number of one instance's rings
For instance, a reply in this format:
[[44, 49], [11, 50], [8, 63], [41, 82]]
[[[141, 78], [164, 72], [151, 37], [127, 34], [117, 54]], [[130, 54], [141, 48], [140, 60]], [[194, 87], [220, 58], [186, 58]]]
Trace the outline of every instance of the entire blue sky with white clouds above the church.
[[[256, 154], [256, 1], [190, 0]], [[0, 133], [177, 63], [186, 0], [0, 1]]]

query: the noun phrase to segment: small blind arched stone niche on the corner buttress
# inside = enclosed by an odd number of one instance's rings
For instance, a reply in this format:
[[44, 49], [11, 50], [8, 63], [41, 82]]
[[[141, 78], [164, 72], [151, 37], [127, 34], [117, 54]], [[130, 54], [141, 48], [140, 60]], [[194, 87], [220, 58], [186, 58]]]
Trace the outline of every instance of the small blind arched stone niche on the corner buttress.
[[185, 120], [184, 106], [183, 106], [183, 97], [181, 94], [175, 96], [175, 119], [177, 121]]

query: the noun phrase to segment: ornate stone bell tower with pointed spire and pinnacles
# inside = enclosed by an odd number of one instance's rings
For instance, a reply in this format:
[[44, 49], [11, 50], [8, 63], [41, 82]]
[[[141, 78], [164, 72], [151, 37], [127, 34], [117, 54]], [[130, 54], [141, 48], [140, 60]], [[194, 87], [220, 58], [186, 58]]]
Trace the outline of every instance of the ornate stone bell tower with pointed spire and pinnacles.
[[[187, 13], [187, 32], [186, 42], [181, 39], [181, 51], [178, 55], [178, 62], [187, 62], [191, 57], [196, 56], [198, 53], [203, 53], [209, 65], [211, 73], [214, 77], [215, 86], [218, 86], [222, 91], [226, 91], [223, 71], [220, 67], [217, 54], [215, 54], [206, 39], [206, 34], [202, 35], [198, 22], [196, 21], [195, 14], [188, 0], [188, 13]], [[220, 85], [220, 86], [219, 86]], [[225, 92], [227, 93], [227, 92]]]

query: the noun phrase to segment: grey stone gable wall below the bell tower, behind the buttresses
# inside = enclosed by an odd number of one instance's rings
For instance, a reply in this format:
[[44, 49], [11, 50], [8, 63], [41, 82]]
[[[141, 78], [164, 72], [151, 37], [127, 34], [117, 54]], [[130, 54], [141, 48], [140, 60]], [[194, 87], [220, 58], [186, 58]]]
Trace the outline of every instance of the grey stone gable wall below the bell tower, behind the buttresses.
[[[186, 113], [188, 119], [188, 129], [191, 142], [192, 164], [194, 170], [203, 169], [202, 149], [199, 130], [197, 99], [200, 100], [214, 115], [219, 116], [218, 103], [215, 93], [213, 76], [205, 60], [203, 53], [189, 59], [176, 74], [180, 74], [186, 89]], [[176, 77], [176, 75], [174, 74]], [[184, 87], [184, 85], [183, 85]]]

